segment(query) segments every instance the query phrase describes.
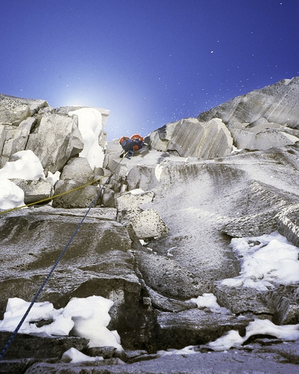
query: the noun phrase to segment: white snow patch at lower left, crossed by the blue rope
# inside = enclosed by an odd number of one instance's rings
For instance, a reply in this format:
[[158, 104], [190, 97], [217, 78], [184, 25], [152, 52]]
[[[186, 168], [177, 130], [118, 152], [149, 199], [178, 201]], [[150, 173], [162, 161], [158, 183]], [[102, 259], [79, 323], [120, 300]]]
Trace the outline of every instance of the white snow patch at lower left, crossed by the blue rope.
[[[10, 298], [6, 306], [0, 331], [15, 331], [30, 302], [20, 298]], [[116, 331], [107, 329], [111, 317], [108, 311], [113, 302], [101, 296], [73, 298], [63, 309], [54, 309], [50, 302], [35, 302], [19, 333], [38, 336], [67, 336], [70, 331], [74, 336], [90, 339], [89, 347], [113, 346], [122, 350], [120, 336]], [[46, 320], [51, 323], [38, 327], [38, 322]]]

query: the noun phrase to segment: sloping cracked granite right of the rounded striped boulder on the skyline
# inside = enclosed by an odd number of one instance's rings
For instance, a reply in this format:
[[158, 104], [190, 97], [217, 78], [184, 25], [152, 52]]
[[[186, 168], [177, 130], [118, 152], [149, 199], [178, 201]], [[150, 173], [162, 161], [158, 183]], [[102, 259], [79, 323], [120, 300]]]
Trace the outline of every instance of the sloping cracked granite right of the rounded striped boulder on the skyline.
[[220, 118], [239, 148], [270, 149], [298, 142], [299, 77], [282, 79], [271, 86], [234, 97], [201, 113], [197, 120]]

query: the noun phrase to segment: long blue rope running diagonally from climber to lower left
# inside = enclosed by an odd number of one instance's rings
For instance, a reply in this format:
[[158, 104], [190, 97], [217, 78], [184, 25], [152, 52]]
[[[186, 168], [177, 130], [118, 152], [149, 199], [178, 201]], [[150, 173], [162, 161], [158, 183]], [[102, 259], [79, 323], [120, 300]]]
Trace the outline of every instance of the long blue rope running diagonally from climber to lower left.
[[[78, 232], [79, 228], [81, 227], [81, 225], [83, 224], [83, 221], [86, 219], [86, 216], [88, 215], [88, 213], [90, 212], [90, 209], [92, 209], [92, 206], [95, 205], [95, 203], [97, 202], [97, 199], [99, 198], [99, 196], [101, 195], [102, 193], [102, 190], [104, 189], [104, 187], [106, 186], [106, 184], [108, 184], [108, 181], [110, 181], [111, 177], [113, 176], [116, 168], [118, 168], [118, 165], [120, 165], [120, 163], [122, 162], [122, 160], [124, 159], [124, 157], [127, 155], [124, 154], [124, 156], [121, 158], [121, 160], [118, 162], [118, 164], [115, 166], [115, 168], [113, 169], [113, 171], [111, 172], [111, 174], [108, 176], [108, 178], [106, 179], [104, 185], [102, 186], [102, 188], [99, 190], [99, 193], [97, 194], [97, 196], [95, 197], [95, 199], [92, 201], [92, 203], [90, 204], [88, 210], [86, 211], [85, 215], [83, 216], [81, 222], [79, 222], [79, 225], [76, 227], [76, 229], [74, 230], [72, 236], [70, 237], [70, 240], [67, 242], [67, 244], [65, 245], [63, 251], [60, 253], [60, 256], [58, 257], [58, 259], [56, 260], [56, 263], [54, 263], [54, 266], [51, 268], [49, 274], [47, 275], [45, 281], [42, 283], [42, 285], [40, 286], [40, 289], [38, 290], [38, 292], [36, 293], [36, 295], [34, 296], [33, 300], [31, 301], [28, 309], [26, 310], [24, 316], [22, 317], [22, 320], [19, 321], [19, 325], [17, 325], [17, 327], [15, 328], [15, 331], [13, 332], [13, 334], [10, 336], [10, 339], [8, 339], [8, 342], [6, 343], [5, 347], [3, 348], [2, 352], [0, 353], [0, 361], [1, 359], [3, 358], [3, 355], [5, 355], [6, 351], [8, 350], [10, 344], [13, 342], [13, 339], [15, 339], [15, 336], [17, 335], [17, 332], [19, 332], [19, 329], [21, 328], [21, 326], [23, 325], [24, 323], [24, 320], [26, 319], [26, 317], [28, 316], [29, 314], [29, 311], [31, 311], [31, 308], [33, 307], [33, 304], [35, 303], [35, 301], [38, 299], [38, 296], [40, 295], [40, 293], [42, 292], [43, 288], [45, 287], [45, 285], [47, 284], [49, 278], [51, 277], [52, 273], [54, 272], [54, 270], [56, 269], [56, 267], [58, 266], [58, 263], [60, 261], [60, 259], [63, 257], [63, 254], [65, 254], [67, 248], [70, 246], [70, 243], [72, 243], [72, 240], [74, 238], [74, 236], [76, 235], [76, 233]], [[70, 191], [68, 191], [70, 192]]]

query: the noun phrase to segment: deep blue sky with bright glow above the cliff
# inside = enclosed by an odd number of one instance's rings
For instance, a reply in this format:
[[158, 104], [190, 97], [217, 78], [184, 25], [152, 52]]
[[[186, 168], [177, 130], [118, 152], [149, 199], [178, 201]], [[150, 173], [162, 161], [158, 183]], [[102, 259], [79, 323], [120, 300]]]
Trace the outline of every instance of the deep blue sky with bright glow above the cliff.
[[109, 109], [109, 140], [299, 75], [299, 0], [0, 5], [0, 92]]

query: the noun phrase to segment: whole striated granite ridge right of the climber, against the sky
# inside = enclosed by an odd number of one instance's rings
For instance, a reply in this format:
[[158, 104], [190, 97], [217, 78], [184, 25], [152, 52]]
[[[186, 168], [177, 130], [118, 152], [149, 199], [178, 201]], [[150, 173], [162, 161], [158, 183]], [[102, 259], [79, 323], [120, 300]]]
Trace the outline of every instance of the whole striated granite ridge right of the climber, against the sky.
[[[235, 97], [201, 113], [149, 134], [154, 149], [179, 156], [207, 159], [227, 156], [238, 149], [266, 150], [299, 141], [299, 78]], [[208, 136], [207, 136], [208, 134]]]

